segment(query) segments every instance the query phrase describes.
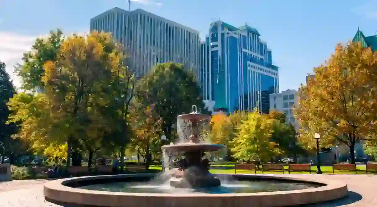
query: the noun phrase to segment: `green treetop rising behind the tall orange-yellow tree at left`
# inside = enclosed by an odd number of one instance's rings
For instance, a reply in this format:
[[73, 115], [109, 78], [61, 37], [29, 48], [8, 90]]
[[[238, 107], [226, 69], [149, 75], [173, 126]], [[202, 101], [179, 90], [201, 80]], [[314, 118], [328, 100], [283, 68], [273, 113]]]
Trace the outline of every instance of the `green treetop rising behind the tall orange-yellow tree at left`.
[[56, 61], [62, 40], [63, 32], [60, 29], [51, 31], [47, 38], [37, 38], [32, 50], [23, 54], [23, 64], [15, 68], [23, 82], [23, 89], [34, 91], [36, 88], [44, 88], [44, 82], [41, 81], [44, 64]]

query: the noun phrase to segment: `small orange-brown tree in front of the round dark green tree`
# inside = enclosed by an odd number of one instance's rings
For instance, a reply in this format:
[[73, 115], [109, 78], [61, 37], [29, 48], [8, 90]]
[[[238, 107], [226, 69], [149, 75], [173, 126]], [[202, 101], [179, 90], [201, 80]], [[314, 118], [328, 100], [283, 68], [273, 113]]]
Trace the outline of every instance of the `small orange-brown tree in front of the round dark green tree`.
[[138, 149], [146, 162], [146, 170], [151, 162], [152, 148], [159, 146], [162, 119], [154, 111], [154, 106], [144, 108], [140, 103], [135, 103], [130, 114], [133, 130], [131, 146]]

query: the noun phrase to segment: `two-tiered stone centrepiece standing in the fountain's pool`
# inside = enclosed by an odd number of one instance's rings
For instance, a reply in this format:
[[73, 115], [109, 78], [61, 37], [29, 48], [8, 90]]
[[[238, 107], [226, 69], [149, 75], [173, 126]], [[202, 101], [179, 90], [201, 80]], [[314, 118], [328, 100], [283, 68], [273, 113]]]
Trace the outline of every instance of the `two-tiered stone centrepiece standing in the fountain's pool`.
[[[211, 120], [211, 115], [200, 114], [195, 105], [192, 106], [192, 112], [178, 116], [178, 120], [183, 123], [189, 123], [191, 135], [185, 139], [184, 134], [180, 135], [181, 142], [162, 146], [162, 150], [168, 153], [183, 153], [183, 159], [177, 162], [178, 168], [172, 170], [172, 178], [169, 183], [172, 187], [178, 188], [203, 188], [220, 186], [221, 182], [212, 175], [209, 170], [209, 160], [202, 159], [205, 152], [218, 151], [224, 148], [224, 145], [214, 145], [201, 143], [202, 138], [199, 131], [199, 123]], [[178, 131], [180, 125], [177, 126]]]

